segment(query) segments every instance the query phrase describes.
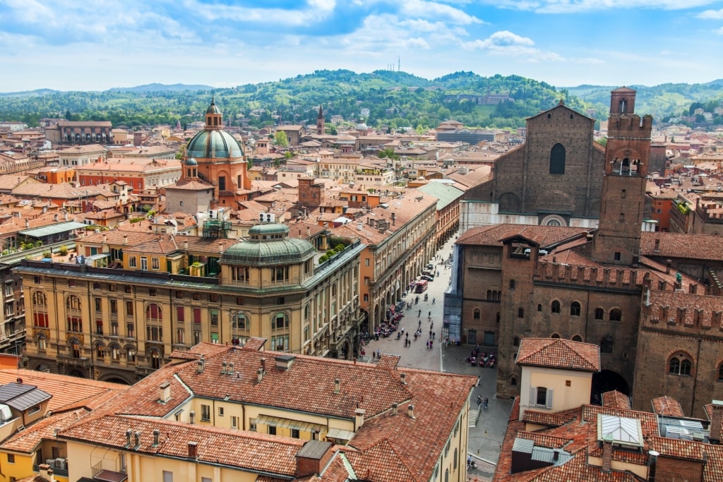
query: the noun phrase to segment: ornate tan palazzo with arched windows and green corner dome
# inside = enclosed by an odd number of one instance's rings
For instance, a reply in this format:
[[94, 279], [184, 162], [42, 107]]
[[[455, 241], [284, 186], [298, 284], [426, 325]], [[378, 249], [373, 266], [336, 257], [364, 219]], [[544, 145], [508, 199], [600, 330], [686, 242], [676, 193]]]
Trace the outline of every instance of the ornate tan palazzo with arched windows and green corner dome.
[[23, 262], [27, 366], [130, 384], [173, 350], [254, 336], [289, 353], [351, 358], [364, 246], [349, 241], [319, 262], [288, 232], [260, 224], [238, 242], [106, 231], [77, 242], [80, 259]]

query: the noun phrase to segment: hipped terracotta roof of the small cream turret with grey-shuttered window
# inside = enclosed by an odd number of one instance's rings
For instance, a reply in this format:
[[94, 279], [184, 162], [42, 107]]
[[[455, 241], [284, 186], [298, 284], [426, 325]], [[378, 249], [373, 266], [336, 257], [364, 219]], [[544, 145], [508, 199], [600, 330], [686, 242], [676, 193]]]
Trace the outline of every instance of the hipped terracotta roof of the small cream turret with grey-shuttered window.
[[600, 371], [600, 347], [563, 338], [523, 338], [516, 363], [566, 370]]

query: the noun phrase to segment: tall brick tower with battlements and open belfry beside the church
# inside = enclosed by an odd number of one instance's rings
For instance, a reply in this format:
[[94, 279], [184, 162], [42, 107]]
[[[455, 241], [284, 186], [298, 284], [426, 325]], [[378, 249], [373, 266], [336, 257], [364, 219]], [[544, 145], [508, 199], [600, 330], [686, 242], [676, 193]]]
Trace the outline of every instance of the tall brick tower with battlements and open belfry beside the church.
[[638, 264], [650, 157], [652, 116], [635, 112], [636, 91], [613, 90], [602, 178], [599, 228], [592, 258], [602, 264]]

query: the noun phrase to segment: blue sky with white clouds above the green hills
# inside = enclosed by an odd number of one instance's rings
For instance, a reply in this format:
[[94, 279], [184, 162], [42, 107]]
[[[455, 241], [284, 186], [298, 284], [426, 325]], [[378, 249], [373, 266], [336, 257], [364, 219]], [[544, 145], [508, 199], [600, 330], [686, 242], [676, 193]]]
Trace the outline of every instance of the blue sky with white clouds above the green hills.
[[723, 1], [0, 0], [0, 92], [231, 87], [398, 60], [552, 85], [723, 78]]

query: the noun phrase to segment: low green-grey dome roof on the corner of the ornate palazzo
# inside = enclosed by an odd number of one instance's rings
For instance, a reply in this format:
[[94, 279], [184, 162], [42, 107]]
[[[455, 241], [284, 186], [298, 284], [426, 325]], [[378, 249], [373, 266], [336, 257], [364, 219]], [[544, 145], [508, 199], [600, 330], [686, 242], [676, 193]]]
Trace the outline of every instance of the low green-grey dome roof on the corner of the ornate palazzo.
[[222, 264], [273, 266], [301, 263], [314, 256], [314, 246], [304, 239], [289, 238], [288, 226], [257, 224], [249, 229], [249, 240], [223, 251]]

